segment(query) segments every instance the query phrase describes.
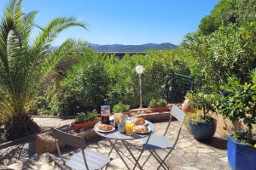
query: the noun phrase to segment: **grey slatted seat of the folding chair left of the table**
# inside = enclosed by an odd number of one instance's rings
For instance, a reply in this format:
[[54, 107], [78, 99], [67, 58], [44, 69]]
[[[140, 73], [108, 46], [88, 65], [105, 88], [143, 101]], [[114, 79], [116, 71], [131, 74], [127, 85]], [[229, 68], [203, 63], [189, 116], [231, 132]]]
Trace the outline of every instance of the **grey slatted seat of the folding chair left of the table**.
[[[92, 150], [86, 149], [84, 150], [84, 152], [90, 170], [100, 169], [108, 164], [108, 162], [110, 161], [110, 158], [108, 156], [103, 156], [102, 154], [94, 152]], [[65, 163], [68, 167], [72, 167], [77, 170], [86, 169], [82, 151], [75, 153]]]

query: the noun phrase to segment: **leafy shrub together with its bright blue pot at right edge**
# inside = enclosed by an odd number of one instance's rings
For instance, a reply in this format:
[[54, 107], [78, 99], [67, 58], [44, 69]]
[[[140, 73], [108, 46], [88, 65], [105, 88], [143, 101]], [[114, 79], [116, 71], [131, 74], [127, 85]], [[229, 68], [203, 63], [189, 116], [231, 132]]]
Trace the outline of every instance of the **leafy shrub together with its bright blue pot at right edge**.
[[219, 100], [217, 111], [232, 122], [241, 120], [244, 131], [228, 135], [228, 160], [233, 170], [256, 169], [256, 135], [253, 124], [256, 124], [256, 70], [252, 73], [252, 81], [241, 84], [231, 77], [223, 87], [228, 95]]

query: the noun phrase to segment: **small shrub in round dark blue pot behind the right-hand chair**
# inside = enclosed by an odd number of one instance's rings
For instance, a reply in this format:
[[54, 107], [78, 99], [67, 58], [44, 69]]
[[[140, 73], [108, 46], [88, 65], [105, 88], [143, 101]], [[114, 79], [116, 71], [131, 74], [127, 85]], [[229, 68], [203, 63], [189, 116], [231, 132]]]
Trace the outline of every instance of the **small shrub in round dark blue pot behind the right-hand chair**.
[[216, 131], [216, 123], [210, 116], [210, 111], [213, 110], [215, 96], [206, 94], [203, 90], [194, 93], [188, 93], [189, 105], [196, 109], [195, 116], [189, 119], [189, 131], [197, 140], [212, 139]]

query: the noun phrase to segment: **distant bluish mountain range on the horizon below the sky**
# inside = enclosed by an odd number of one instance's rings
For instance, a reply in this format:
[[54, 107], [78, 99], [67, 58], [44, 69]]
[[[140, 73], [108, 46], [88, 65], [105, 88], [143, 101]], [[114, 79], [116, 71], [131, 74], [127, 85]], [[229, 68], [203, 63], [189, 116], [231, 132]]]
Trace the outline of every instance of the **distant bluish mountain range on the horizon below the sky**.
[[146, 43], [142, 45], [123, 45], [123, 44], [113, 44], [113, 45], [99, 45], [95, 43], [90, 43], [90, 47], [95, 49], [97, 52], [144, 52], [148, 49], [173, 49], [177, 48], [176, 45], [166, 42], [166, 43]]

